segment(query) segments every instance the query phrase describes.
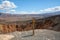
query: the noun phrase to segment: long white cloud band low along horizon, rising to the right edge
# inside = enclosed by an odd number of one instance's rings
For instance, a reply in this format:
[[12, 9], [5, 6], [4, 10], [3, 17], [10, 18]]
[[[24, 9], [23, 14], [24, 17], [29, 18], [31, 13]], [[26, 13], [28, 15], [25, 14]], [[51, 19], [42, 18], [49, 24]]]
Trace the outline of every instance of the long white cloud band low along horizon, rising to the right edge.
[[16, 12], [17, 14], [43, 14], [43, 13], [50, 13], [50, 12], [56, 12], [56, 11], [60, 11], [60, 6], [56, 6], [53, 8], [47, 8], [47, 9], [43, 9], [40, 11], [20, 11], [20, 12]]

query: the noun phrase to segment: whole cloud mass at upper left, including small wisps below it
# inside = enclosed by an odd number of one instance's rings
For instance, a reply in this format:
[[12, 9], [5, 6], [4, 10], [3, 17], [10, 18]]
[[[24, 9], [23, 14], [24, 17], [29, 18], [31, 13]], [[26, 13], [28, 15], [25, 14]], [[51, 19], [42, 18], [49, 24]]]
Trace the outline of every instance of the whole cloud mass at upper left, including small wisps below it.
[[11, 13], [12, 11], [15, 11], [13, 10], [14, 8], [16, 8], [17, 6], [13, 3], [13, 2], [10, 2], [10, 1], [2, 1], [2, 3], [0, 4], [0, 10], [5, 10], [6, 13]]

